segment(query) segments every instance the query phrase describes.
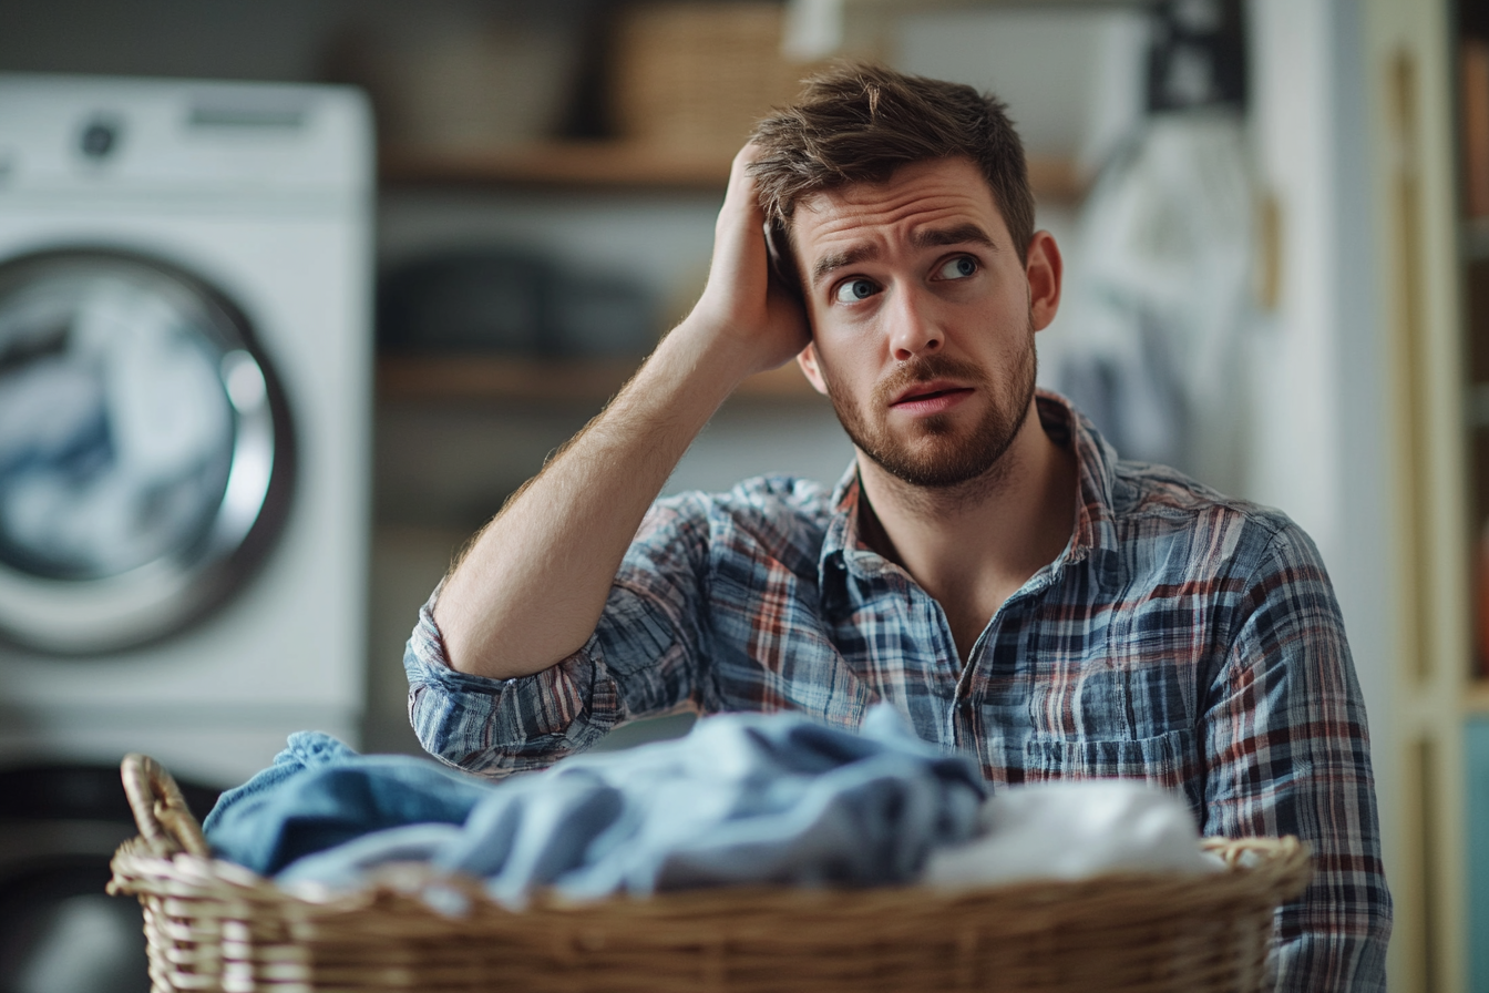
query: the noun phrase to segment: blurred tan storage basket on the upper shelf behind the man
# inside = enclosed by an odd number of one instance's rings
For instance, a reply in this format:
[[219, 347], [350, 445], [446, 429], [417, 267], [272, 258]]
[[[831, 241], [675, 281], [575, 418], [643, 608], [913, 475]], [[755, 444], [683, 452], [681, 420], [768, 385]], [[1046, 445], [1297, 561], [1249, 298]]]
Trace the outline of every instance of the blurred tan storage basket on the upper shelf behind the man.
[[625, 10], [612, 77], [621, 137], [736, 150], [756, 118], [795, 98], [813, 68], [782, 58], [783, 16], [770, 0]]

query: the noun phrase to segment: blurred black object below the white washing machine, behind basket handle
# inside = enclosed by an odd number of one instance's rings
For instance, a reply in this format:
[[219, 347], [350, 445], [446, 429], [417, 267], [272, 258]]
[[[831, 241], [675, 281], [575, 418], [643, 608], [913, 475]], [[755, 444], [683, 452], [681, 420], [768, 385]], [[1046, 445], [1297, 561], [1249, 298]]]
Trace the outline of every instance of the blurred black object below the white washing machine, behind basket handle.
[[[183, 786], [197, 813], [217, 791]], [[106, 765], [0, 770], [0, 992], [144, 993], [144, 922], [104, 895], [109, 859], [137, 828]]]

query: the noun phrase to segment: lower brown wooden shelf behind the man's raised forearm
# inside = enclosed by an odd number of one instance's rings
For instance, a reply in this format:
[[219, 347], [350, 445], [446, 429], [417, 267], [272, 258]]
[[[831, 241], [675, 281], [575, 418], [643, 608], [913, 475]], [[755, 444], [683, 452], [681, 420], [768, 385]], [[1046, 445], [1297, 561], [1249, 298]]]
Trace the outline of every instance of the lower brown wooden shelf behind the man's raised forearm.
[[[535, 403], [599, 408], [639, 360], [543, 360], [508, 356], [383, 356], [377, 395], [393, 403]], [[797, 363], [752, 375], [734, 393], [752, 400], [826, 403]]]

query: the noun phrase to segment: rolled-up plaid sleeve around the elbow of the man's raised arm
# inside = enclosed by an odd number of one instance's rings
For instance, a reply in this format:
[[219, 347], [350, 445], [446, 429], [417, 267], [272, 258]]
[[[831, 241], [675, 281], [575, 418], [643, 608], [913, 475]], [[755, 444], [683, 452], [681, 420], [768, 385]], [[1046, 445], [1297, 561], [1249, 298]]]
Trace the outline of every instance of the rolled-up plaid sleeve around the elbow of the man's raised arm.
[[433, 618], [435, 590], [404, 654], [408, 716], [420, 743], [451, 765], [505, 776], [582, 752], [625, 721], [697, 709], [706, 539], [701, 499], [658, 502], [590, 640], [520, 679], [450, 665]]

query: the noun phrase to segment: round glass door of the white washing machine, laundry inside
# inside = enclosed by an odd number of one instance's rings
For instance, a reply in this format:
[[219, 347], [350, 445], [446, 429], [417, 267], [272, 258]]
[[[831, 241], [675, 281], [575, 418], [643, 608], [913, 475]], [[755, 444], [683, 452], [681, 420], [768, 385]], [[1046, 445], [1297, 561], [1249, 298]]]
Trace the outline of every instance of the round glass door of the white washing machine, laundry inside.
[[0, 264], [0, 636], [95, 654], [203, 616], [271, 545], [292, 463], [223, 293], [116, 252]]

